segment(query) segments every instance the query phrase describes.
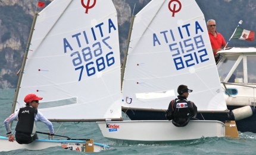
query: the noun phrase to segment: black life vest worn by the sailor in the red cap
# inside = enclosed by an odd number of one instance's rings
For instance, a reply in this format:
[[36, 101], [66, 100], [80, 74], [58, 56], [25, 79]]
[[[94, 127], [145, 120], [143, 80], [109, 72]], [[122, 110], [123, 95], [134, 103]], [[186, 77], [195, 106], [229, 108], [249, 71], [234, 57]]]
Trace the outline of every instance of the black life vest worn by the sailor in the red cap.
[[32, 108], [30, 106], [20, 108], [15, 131], [18, 133], [32, 134], [36, 114], [38, 114], [38, 109]]

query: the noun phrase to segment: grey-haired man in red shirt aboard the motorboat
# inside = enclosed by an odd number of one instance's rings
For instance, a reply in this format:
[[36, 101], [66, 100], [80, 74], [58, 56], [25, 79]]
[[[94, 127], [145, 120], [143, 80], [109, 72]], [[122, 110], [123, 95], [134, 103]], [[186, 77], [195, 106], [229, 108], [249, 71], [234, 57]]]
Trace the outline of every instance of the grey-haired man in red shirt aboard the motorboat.
[[218, 62], [220, 56], [217, 55], [217, 51], [222, 50], [226, 46], [226, 41], [220, 33], [216, 31], [216, 21], [208, 20], [207, 21], [208, 34], [211, 41], [211, 48], [213, 49], [213, 54], [215, 61]]

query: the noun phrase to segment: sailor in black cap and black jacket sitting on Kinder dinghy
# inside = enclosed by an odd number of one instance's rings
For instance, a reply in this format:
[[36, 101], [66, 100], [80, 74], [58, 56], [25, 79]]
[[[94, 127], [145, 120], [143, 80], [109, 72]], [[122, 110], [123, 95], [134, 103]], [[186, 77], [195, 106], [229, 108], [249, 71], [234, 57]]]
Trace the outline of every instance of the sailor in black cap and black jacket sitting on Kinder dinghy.
[[189, 92], [186, 85], [180, 85], [177, 89], [179, 95], [176, 99], [173, 99], [167, 109], [166, 118], [167, 120], [173, 120], [173, 124], [176, 127], [185, 127], [190, 119], [196, 117], [197, 107], [192, 101], [188, 101]]

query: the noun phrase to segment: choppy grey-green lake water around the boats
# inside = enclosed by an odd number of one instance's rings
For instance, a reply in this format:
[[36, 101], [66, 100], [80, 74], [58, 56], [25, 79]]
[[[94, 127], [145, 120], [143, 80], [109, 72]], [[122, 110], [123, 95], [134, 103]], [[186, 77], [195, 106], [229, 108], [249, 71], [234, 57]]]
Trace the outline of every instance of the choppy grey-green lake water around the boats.
[[[14, 89], [0, 90], [0, 135], [6, 134], [3, 122], [11, 114], [14, 91]], [[127, 119], [125, 114], [123, 117]], [[51, 147], [39, 151], [15, 150], [2, 152], [0, 146], [0, 154], [256, 154], [256, 134], [254, 133], [239, 133], [240, 138], [238, 139], [201, 138], [199, 140], [164, 144], [127, 144], [125, 142], [116, 143], [104, 138], [95, 122], [53, 122], [53, 124], [55, 134], [70, 138], [93, 138], [96, 143], [106, 144], [111, 148], [99, 153], [80, 153], [64, 150], [61, 147]], [[15, 123], [13, 131], [14, 127]], [[37, 127], [38, 131], [48, 133], [48, 127], [42, 122], [38, 122]], [[39, 138], [48, 138], [48, 136], [39, 134]]]

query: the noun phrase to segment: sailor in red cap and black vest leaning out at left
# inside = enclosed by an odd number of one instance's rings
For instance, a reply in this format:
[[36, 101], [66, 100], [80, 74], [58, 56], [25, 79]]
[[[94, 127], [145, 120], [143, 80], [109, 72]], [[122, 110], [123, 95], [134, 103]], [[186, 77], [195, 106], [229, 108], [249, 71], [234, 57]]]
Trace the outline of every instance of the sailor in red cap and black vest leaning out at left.
[[15, 140], [19, 144], [29, 144], [38, 138], [36, 134], [36, 122], [44, 122], [51, 134], [54, 134], [54, 127], [52, 123], [47, 120], [40, 111], [38, 111], [38, 105], [40, 98], [35, 94], [29, 94], [24, 98], [26, 106], [24, 108], [18, 109], [14, 114], [11, 114], [4, 121], [5, 128], [7, 130], [7, 136], [9, 141], [14, 141], [14, 135], [11, 133], [10, 122], [13, 120], [18, 120], [15, 128]]

